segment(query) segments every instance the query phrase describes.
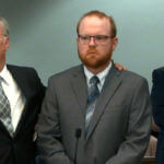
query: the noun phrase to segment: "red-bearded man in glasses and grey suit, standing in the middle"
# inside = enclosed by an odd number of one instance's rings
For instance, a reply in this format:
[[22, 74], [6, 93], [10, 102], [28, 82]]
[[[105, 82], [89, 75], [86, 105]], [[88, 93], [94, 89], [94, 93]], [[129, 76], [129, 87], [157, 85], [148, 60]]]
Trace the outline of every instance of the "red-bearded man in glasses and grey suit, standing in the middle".
[[48, 81], [36, 125], [40, 164], [139, 164], [151, 130], [148, 82], [115, 68], [114, 20], [90, 11], [78, 23], [82, 65]]

